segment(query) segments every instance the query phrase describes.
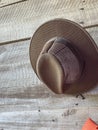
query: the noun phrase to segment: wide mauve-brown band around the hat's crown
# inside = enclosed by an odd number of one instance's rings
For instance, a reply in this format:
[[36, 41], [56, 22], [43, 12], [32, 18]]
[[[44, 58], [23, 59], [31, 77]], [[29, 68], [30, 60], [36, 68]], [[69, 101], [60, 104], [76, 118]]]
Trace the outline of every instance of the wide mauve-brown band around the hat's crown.
[[74, 83], [81, 77], [84, 68], [83, 59], [68, 40], [56, 38], [47, 52], [55, 56], [59, 61], [66, 84]]

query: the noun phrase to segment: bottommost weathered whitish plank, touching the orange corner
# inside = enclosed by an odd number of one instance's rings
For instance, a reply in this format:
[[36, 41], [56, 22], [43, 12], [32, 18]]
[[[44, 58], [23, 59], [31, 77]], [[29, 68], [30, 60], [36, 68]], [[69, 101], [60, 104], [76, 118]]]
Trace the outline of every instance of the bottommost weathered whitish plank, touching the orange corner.
[[[95, 114], [95, 113], [96, 114]], [[2, 112], [0, 115], [0, 127], [9, 129], [9, 126], [13, 129], [38, 129], [48, 128], [50, 129], [69, 129], [69, 130], [81, 130], [81, 127], [87, 117], [95, 117], [95, 121], [98, 120], [98, 109], [93, 108], [70, 108], [69, 109], [55, 109], [55, 110], [42, 110], [35, 111], [12, 111]]]

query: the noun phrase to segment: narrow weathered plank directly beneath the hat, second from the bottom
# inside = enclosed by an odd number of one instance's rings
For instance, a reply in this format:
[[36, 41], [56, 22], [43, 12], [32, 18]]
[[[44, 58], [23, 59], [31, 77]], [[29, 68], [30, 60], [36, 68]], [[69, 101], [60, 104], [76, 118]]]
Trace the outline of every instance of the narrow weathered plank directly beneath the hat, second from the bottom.
[[[37, 88], [36, 88], [37, 89]], [[33, 93], [33, 91], [31, 91]], [[41, 111], [41, 110], [55, 110], [55, 109], [70, 109], [70, 108], [92, 108], [98, 107], [98, 95], [87, 95], [85, 99], [81, 97], [76, 98], [72, 95], [56, 95], [49, 93], [43, 96], [24, 93], [24, 97], [2, 97], [0, 98], [0, 112], [12, 111]]]

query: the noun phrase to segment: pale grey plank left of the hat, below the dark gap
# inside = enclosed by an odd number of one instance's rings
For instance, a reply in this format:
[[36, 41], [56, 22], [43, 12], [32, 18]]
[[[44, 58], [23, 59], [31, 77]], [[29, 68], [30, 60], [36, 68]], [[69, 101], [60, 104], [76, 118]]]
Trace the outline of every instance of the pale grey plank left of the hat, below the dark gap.
[[[20, 44], [20, 45], [19, 45]], [[19, 44], [3, 46], [0, 49], [0, 94], [7, 90], [14, 92], [22, 92], [21, 87], [33, 86], [38, 83], [38, 79], [34, 74], [29, 61], [29, 41]], [[22, 62], [21, 62], [22, 59]], [[27, 80], [29, 82], [27, 82]], [[19, 82], [17, 82], [19, 81]], [[10, 88], [10, 86], [13, 86]], [[23, 88], [22, 87], [22, 88]]]

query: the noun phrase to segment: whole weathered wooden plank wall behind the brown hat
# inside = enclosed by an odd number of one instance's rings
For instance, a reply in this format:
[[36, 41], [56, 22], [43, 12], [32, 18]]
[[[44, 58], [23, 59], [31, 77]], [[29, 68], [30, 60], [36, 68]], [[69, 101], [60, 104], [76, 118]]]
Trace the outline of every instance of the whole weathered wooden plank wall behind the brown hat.
[[81, 130], [98, 123], [98, 87], [81, 96], [56, 95], [36, 77], [30, 38], [45, 21], [79, 23], [98, 45], [98, 0], [0, 0], [0, 130]]

